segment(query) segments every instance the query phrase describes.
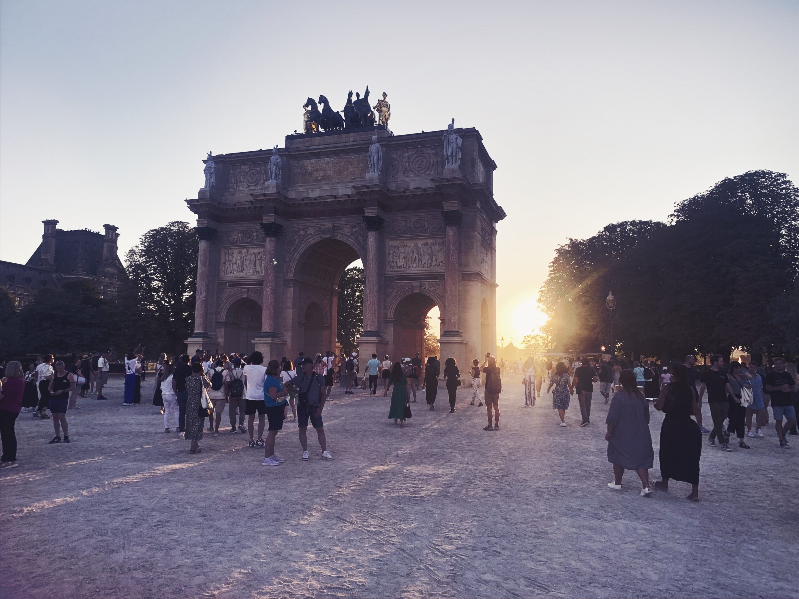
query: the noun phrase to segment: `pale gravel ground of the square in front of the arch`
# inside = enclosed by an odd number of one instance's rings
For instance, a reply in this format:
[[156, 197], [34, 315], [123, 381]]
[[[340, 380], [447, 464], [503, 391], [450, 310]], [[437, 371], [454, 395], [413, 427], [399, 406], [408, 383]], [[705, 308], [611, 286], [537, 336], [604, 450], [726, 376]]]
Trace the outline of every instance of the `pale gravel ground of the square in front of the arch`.
[[20, 415], [20, 466], [0, 471], [0, 596], [799, 597], [799, 442], [781, 450], [773, 428], [749, 451], [703, 446], [692, 503], [684, 483], [639, 497], [632, 472], [606, 487], [598, 393], [591, 426], [573, 399], [559, 428], [548, 395], [526, 409], [511, 387], [487, 432], [467, 389], [455, 415], [443, 389], [435, 412], [420, 395], [400, 429], [388, 399], [336, 387], [336, 459], [310, 430], [302, 462], [288, 422], [286, 462], [267, 467], [243, 434], [189, 454], [158, 408], [121, 407], [121, 379], [109, 387], [116, 399], [70, 411], [70, 445]]

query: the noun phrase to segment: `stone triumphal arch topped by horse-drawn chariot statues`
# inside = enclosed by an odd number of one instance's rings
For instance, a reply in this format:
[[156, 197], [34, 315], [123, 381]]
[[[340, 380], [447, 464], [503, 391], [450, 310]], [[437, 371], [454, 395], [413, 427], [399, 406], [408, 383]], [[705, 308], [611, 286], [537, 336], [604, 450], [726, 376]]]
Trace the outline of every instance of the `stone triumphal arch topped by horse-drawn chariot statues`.
[[186, 200], [200, 239], [189, 353], [336, 351], [339, 282], [359, 258], [361, 355], [423, 355], [434, 305], [443, 358], [493, 353], [505, 212], [477, 129], [394, 135], [368, 93], [349, 98], [344, 117], [325, 117], [326, 103], [308, 98], [304, 133], [284, 148], [205, 160], [205, 187]]

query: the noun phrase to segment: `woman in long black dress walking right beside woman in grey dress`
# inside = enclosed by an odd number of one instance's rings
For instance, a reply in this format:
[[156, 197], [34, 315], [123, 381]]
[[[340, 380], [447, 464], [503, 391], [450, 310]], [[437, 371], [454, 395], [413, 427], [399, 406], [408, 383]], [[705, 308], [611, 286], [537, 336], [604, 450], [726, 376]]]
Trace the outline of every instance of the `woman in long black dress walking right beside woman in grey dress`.
[[691, 419], [700, 407], [697, 392], [688, 384], [684, 364], [671, 366], [671, 383], [663, 385], [654, 403], [656, 410], [666, 414], [660, 429], [660, 472], [663, 480], [654, 488], [669, 490], [669, 480], [690, 482], [689, 499], [699, 501], [699, 457], [702, 454], [702, 433]]

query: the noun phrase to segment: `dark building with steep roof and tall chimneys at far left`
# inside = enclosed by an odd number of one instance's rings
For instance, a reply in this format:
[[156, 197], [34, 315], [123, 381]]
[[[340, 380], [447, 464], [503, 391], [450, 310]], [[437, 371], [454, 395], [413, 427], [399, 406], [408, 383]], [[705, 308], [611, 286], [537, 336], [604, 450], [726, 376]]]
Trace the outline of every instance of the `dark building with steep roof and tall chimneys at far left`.
[[86, 281], [101, 297], [113, 297], [125, 281], [117, 256], [117, 227], [104, 224], [105, 233], [78, 229], [64, 231], [58, 220], [42, 220], [42, 243], [26, 264], [0, 260], [0, 285], [23, 307], [40, 289], [58, 288], [70, 281]]

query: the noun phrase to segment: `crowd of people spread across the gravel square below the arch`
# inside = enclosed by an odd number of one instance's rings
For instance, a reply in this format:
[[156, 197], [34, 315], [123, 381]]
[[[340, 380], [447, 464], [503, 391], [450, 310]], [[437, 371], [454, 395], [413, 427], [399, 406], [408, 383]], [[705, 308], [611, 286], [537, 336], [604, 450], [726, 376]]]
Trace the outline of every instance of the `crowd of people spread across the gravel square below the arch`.
[[[141, 405], [141, 383], [146, 367], [144, 347], [125, 355], [125, 383], [122, 405]], [[566, 411], [572, 395], [580, 408], [580, 426], [591, 423], [594, 385], [605, 403], [607, 458], [613, 465], [614, 481], [610, 489], [622, 489], [625, 470], [634, 470], [641, 479], [642, 496], [652, 490], [669, 490], [670, 481], [687, 482], [692, 486], [689, 498], [698, 500], [699, 459], [702, 434], [708, 434], [709, 445], [724, 451], [733, 435], [738, 448], [750, 450], [745, 439], [764, 438], [771, 407], [779, 446], [789, 447], [789, 434], [797, 434], [799, 384], [793, 363], [774, 356], [769, 363], [725, 364], [721, 355], [710, 357], [709, 367], [700, 375], [696, 358], [687, 355], [682, 363], [658, 367], [653, 361], [625, 362], [616, 359], [578, 358], [552, 363], [545, 357], [531, 357], [515, 368], [524, 388], [524, 407], [535, 407], [543, 383], [548, 382], [553, 410], [558, 411], [559, 426], [566, 426]], [[37, 419], [52, 419], [54, 438], [50, 443], [70, 442], [66, 414], [77, 409], [78, 399], [95, 395], [107, 399], [103, 387], [108, 383], [109, 353], [94, 352], [66, 364], [43, 355], [25, 370], [16, 361], [0, 365], [0, 435], [2, 435], [2, 467], [17, 465], [17, 441], [14, 422], [20, 413], [31, 413]], [[510, 371], [505, 371], [510, 375]], [[503, 392], [503, 369], [494, 356], [486, 354], [481, 363], [473, 359], [468, 370], [471, 377], [471, 402], [487, 410], [487, 426], [499, 429], [499, 395]], [[506, 376], [507, 378], [507, 376]], [[416, 392], [424, 391], [427, 407], [435, 411], [439, 381], [447, 389], [449, 414], [456, 410], [456, 394], [462, 386], [461, 372], [454, 358], [444, 360], [443, 369], [437, 356], [423, 363], [419, 354], [413, 358], [392, 361], [372, 354], [360, 371], [359, 355], [325, 355], [314, 358], [303, 352], [292, 363], [283, 358], [264, 365], [259, 351], [250, 355], [212, 355], [197, 350], [195, 355], [181, 355], [170, 360], [161, 354], [156, 363], [153, 405], [161, 407], [165, 434], [176, 431], [190, 442], [189, 453], [201, 453], [204, 431], [222, 434], [225, 406], [229, 408], [229, 433], [248, 435], [248, 446], [264, 448], [264, 466], [279, 466], [285, 460], [276, 454], [276, 438], [284, 422], [299, 427], [301, 457], [310, 458], [308, 422], [316, 430], [320, 457], [332, 460], [324, 431], [323, 411], [332, 387], [339, 383], [344, 394], [354, 389], [366, 391], [369, 397], [391, 391], [388, 419], [396, 426], [406, 426], [411, 418], [411, 404]], [[482, 396], [481, 396], [482, 389]], [[702, 426], [702, 399], [707, 403], [713, 422], [711, 430]], [[654, 464], [650, 434], [650, 401], [654, 409], [665, 415], [660, 430], [659, 460], [662, 479], [650, 484], [649, 470]], [[256, 415], [257, 432], [256, 432]], [[205, 419], [208, 428], [205, 428]], [[246, 426], [245, 426], [246, 422]], [[264, 430], [266, 438], [264, 438]]]

